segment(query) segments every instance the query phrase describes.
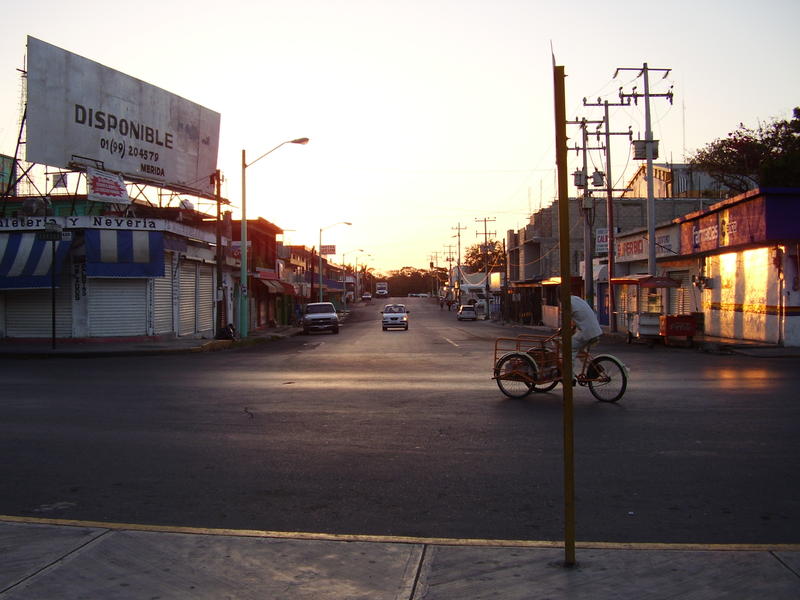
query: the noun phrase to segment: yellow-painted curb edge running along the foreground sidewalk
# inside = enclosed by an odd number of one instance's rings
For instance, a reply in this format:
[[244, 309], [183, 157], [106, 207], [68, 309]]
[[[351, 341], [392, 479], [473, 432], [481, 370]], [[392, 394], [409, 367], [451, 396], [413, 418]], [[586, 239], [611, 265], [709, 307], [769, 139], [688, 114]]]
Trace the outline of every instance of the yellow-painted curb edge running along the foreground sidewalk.
[[[282, 540], [311, 540], [332, 542], [372, 542], [379, 544], [424, 544], [429, 546], [484, 546], [507, 548], [563, 548], [558, 540], [492, 540], [472, 538], [436, 538], [398, 535], [360, 535], [337, 533], [312, 533], [305, 531], [263, 531], [259, 529], [220, 529], [207, 527], [173, 527], [170, 525], [144, 525], [141, 523], [113, 523], [107, 521], [78, 521], [74, 519], [49, 519], [0, 515], [0, 523], [29, 525], [59, 525], [86, 527], [114, 531], [147, 531], [152, 533], [182, 533], [189, 535], [239, 536], [274, 538]], [[800, 544], [666, 544], [659, 542], [576, 542], [584, 550], [673, 550], [715, 552], [800, 552]]]

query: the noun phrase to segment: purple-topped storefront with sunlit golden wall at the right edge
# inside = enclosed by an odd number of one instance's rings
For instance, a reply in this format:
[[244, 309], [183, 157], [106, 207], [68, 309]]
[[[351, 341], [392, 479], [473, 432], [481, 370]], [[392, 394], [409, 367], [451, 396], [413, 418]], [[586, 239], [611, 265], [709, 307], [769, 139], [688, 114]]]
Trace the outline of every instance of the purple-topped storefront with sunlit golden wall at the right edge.
[[705, 332], [800, 346], [800, 189], [751, 190], [677, 222]]

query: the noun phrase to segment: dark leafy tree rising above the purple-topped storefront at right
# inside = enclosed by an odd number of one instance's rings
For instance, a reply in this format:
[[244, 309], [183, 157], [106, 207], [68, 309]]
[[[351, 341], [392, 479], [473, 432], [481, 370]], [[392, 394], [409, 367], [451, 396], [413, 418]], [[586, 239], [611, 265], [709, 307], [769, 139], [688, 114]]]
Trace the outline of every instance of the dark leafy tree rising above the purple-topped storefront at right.
[[757, 129], [740, 123], [689, 162], [734, 193], [759, 186], [800, 187], [800, 107], [789, 121], [775, 120]]

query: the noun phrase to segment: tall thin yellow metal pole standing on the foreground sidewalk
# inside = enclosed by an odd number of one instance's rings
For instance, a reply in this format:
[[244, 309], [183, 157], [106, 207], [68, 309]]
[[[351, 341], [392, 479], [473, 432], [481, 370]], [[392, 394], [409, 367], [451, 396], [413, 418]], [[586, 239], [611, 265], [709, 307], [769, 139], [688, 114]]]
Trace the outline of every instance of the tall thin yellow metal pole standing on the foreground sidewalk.
[[564, 564], [575, 564], [575, 447], [572, 412], [572, 273], [569, 248], [569, 193], [567, 189], [567, 110], [564, 67], [553, 60], [553, 88], [558, 169], [558, 231], [561, 249], [561, 375], [564, 390]]

